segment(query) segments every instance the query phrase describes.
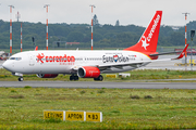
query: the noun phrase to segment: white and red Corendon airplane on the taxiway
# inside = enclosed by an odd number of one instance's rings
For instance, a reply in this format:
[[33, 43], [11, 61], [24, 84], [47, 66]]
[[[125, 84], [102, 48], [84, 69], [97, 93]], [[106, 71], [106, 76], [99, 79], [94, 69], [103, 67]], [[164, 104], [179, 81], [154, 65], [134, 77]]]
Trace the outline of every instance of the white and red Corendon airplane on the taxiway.
[[59, 74], [71, 75], [70, 80], [94, 78], [102, 81], [101, 74], [122, 73], [145, 66], [151, 62], [179, 60], [184, 56], [188, 44], [175, 58], [157, 60], [157, 43], [162, 11], [156, 11], [151, 22], [135, 46], [120, 50], [34, 50], [16, 53], [2, 66], [12, 75], [37, 74], [39, 78], [56, 78]]

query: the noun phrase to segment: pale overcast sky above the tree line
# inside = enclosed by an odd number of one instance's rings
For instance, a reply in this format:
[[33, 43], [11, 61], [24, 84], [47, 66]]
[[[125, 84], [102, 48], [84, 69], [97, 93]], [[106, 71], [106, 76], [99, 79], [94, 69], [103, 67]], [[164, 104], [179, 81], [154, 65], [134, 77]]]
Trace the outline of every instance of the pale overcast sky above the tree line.
[[[147, 27], [157, 10], [163, 12], [161, 25], [184, 26], [186, 12], [187, 23], [196, 21], [196, 0], [0, 0], [0, 20], [15, 22], [20, 12], [21, 22], [46, 23], [45, 4], [49, 4], [49, 24], [90, 24], [90, 4], [101, 25], [115, 25], [119, 20], [120, 25]], [[9, 5], [14, 5], [12, 15]]]

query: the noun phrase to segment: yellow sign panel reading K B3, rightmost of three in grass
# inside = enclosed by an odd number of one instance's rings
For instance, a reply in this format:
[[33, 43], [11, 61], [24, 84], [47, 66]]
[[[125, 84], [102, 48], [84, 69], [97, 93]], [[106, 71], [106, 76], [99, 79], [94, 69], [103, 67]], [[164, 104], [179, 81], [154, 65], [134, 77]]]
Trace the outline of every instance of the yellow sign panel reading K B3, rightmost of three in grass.
[[86, 112], [86, 121], [102, 122], [101, 112]]

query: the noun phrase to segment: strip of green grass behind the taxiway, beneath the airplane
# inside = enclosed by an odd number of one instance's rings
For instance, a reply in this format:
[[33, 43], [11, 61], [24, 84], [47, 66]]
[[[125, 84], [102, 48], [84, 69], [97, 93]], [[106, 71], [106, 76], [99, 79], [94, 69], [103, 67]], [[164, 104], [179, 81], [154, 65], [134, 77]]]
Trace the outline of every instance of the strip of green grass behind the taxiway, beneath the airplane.
[[[191, 70], [170, 70], [170, 69], [138, 69], [138, 70], [132, 70], [127, 72], [131, 74], [131, 77], [127, 78], [109, 78], [106, 77], [106, 74], [102, 74], [105, 81], [162, 81], [162, 79], [187, 79], [187, 78], [196, 78], [196, 72]], [[0, 80], [1, 81], [17, 81], [16, 76], [12, 76], [10, 72], [5, 69], [0, 69]], [[24, 75], [24, 80], [62, 80], [62, 81], [69, 81], [70, 75], [59, 75], [57, 78], [38, 78], [36, 75]], [[93, 78], [79, 78], [79, 81], [94, 81]], [[170, 81], [170, 80], [169, 80]], [[194, 82], [195, 80], [193, 80]]]

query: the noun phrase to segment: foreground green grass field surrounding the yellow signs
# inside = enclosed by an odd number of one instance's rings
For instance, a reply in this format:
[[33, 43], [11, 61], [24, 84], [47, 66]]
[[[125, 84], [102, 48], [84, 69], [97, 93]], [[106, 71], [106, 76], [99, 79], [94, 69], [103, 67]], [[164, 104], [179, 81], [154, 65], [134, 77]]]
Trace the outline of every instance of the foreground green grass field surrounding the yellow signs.
[[[44, 109], [102, 112], [103, 121], [44, 120]], [[0, 88], [0, 129], [196, 129], [196, 90]]]

